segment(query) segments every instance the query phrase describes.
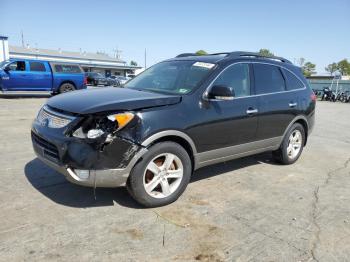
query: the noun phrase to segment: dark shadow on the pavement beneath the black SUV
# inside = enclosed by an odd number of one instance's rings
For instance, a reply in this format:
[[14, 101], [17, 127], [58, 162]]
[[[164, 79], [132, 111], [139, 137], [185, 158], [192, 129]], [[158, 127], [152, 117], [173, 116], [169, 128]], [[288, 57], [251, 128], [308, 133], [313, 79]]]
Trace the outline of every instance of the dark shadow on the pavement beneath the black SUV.
[[[271, 160], [271, 154], [268, 153], [245, 157], [203, 167], [195, 171], [190, 183], [261, 163], [275, 164]], [[24, 173], [34, 188], [47, 198], [61, 205], [89, 208], [113, 206], [114, 203], [117, 203], [118, 205], [129, 208], [143, 208], [129, 196], [125, 187], [96, 188], [94, 194], [93, 188], [78, 186], [68, 182], [63, 175], [46, 166], [38, 158], [33, 159], [25, 165]]]

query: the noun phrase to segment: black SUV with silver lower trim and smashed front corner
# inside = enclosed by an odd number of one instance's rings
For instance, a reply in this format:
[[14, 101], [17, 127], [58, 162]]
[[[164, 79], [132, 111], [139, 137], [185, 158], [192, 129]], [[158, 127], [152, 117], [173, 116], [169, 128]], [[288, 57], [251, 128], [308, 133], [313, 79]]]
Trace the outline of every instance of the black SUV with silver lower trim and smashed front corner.
[[175, 201], [201, 167], [271, 151], [300, 156], [316, 97], [300, 68], [280, 57], [232, 52], [158, 63], [125, 88], [50, 98], [32, 125], [42, 161], [71, 182], [126, 183], [145, 206]]

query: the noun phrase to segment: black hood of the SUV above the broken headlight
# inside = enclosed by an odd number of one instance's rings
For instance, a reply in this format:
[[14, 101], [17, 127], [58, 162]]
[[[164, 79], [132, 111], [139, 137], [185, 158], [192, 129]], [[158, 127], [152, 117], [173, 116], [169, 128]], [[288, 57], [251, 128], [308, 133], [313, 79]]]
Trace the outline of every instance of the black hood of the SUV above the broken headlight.
[[68, 92], [50, 98], [47, 104], [70, 113], [92, 114], [172, 105], [180, 101], [181, 96], [110, 87]]

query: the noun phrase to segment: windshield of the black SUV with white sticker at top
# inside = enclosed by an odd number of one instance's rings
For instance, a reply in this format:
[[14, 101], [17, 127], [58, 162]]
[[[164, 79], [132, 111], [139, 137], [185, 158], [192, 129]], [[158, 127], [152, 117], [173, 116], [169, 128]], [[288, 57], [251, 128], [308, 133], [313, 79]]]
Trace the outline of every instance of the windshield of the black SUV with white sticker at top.
[[124, 87], [170, 94], [187, 94], [195, 89], [215, 64], [195, 61], [169, 61], [156, 64]]

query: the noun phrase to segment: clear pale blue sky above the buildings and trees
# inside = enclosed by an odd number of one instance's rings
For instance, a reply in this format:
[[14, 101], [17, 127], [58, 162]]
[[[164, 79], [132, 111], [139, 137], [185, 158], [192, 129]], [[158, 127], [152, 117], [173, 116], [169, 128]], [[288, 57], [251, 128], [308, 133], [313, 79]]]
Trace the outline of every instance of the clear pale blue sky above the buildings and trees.
[[350, 58], [350, 1], [0, 0], [0, 35], [10, 45], [69, 51], [122, 50], [147, 65], [179, 53], [258, 51], [324, 67]]

